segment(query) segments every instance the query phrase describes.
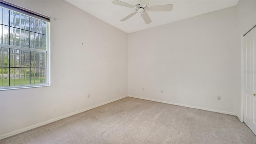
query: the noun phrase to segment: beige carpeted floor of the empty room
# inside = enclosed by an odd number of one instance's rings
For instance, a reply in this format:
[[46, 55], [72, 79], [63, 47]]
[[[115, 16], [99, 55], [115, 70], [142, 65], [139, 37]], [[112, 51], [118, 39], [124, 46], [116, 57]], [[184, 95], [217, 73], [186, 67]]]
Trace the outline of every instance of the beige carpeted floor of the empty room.
[[137, 98], [0, 140], [0, 144], [256, 144], [236, 116]]

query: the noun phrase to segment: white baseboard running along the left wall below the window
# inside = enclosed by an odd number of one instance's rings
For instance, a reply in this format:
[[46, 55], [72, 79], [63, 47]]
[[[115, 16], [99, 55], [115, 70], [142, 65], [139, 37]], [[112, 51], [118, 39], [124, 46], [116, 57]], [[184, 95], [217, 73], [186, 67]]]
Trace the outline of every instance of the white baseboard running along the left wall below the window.
[[79, 113], [81, 113], [81, 112], [85, 112], [85, 111], [87, 111], [87, 110], [90, 110], [90, 109], [93, 109], [93, 108], [96, 108], [96, 107], [102, 106], [102, 105], [104, 105], [104, 104], [108, 104], [108, 103], [110, 103], [110, 102], [114, 102], [114, 101], [116, 101], [116, 100], [120, 100], [120, 99], [126, 98], [126, 97], [127, 97], [127, 96], [123, 96], [123, 97], [121, 97], [121, 98], [116, 98], [116, 99], [114, 99], [114, 100], [110, 100], [110, 101], [108, 101], [108, 102], [104, 102], [104, 103], [102, 103], [102, 104], [98, 104], [98, 105], [96, 105], [96, 106], [91, 106], [91, 107], [89, 107], [89, 108], [86, 108], [86, 109], [83, 109], [83, 110], [79, 110], [79, 111], [77, 111], [77, 112], [72, 112], [72, 113], [70, 113], [70, 114], [66, 114], [66, 115], [64, 115], [64, 116], [60, 116], [60, 117], [58, 117], [58, 118], [54, 118], [54, 119], [51, 119], [51, 120], [47, 120], [46, 122], [41, 122], [41, 123], [35, 124], [35, 125], [33, 125], [33, 126], [29, 126], [29, 127], [26, 127], [26, 128], [22, 128], [22, 129], [20, 129], [20, 130], [16, 130], [16, 131], [14, 131], [14, 132], [10, 132], [10, 133], [4, 134], [4, 135], [0, 136], [0, 140], [2, 140], [2, 139], [4, 139], [4, 138], [7, 138], [7, 137], [9, 137], [9, 136], [13, 136], [13, 135], [15, 135], [15, 134], [19, 134], [19, 133], [22, 133], [22, 132], [26, 132], [26, 131], [31, 130], [31, 129], [33, 129], [33, 128], [37, 128], [37, 127], [39, 127], [39, 126], [43, 126], [43, 125], [49, 124], [49, 123], [51, 123], [51, 122], [55, 122], [55, 121], [57, 121], [57, 120], [61, 120], [61, 119], [63, 119], [63, 118], [67, 118], [67, 117], [69, 117], [69, 116], [73, 116], [73, 115], [75, 115], [75, 114], [79, 114]]

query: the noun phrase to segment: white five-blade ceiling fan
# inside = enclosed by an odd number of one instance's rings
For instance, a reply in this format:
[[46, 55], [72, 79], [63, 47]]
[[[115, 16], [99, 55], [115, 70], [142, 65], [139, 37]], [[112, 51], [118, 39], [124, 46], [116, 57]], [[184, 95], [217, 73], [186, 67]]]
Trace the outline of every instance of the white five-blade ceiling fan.
[[149, 24], [150, 22], [152, 22], [152, 20], [148, 16], [147, 11], [149, 11], [149, 12], [168, 12], [168, 11], [171, 11], [173, 8], [172, 4], [148, 6], [148, 2], [149, 2], [149, 0], [137, 0], [135, 2], [135, 4], [132, 5], [132, 4], [128, 4], [126, 2], [122, 2], [119, 0], [112, 0], [112, 4], [135, 9], [135, 12], [132, 12], [131, 14], [129, 14], [128, 16], [126, 16], [125, 18], [120, 20], [122, 22], [126, 21], [128, 18], [130, 18], [130, 17], [134, 16], [135, 14], [137, 14], [138, 12], [140, 12], [144, 22], [146, 24]]

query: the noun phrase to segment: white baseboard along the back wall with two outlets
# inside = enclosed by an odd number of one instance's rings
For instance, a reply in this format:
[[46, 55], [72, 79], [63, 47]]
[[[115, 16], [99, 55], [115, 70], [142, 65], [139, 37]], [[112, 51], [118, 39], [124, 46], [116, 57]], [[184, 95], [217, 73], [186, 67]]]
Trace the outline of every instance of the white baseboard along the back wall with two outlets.
[[154, 101], [154, 102], [162, 102], [162, 103], [165, 103], [165, 104], [173, 104], [173, 105], [177, 105], [177, 106], [185, 106], [185, 107], [188, 107], [188, 108], [195, 108], [195, 109], [199, 109], [199, 110], [207, 110], [207, 111], [211, 111], [211, 112], [218, 112], [218, 113], [222, 113], [222, 114], [230, 114], [230, 115], [236, 116], [236, 113], [234, 113], [234, 112], [225, 112], [225, 111], [222, 111], [222, 110], [214, 110], [214, 109], [210, 109], [210, 108], [202, 108], [202, 107], [198, 107], [198, 106], [190, 106], [190, 105], [186, 105], [186, 104], [178, 104], [178, 103], [174, 103], [174, 102], [166, 102], [166, 101], [162, 101], [162, 100], [154, 100], [154, 99], [143, 98], [143, 97], [139, 97], [139, 96], [128, 95], [128, 97], [140, 98], [140, 99], [143, 99], [143, 100], [150, 100], [150, 101]]

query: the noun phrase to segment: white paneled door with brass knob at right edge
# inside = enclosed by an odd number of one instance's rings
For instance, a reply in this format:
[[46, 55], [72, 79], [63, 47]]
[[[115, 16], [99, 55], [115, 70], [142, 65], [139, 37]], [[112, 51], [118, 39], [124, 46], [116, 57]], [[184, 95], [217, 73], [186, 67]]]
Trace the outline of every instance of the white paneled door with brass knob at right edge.
[[256, 134], [256, 28], [244, 36], [244, 123]]

